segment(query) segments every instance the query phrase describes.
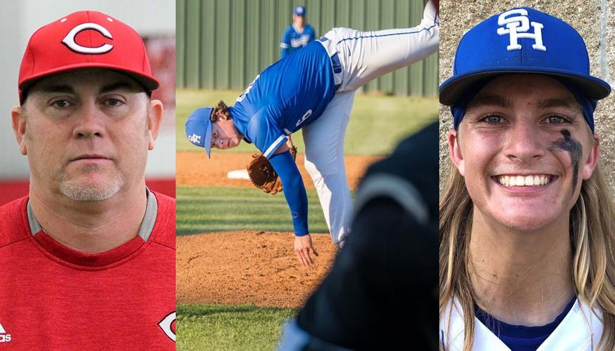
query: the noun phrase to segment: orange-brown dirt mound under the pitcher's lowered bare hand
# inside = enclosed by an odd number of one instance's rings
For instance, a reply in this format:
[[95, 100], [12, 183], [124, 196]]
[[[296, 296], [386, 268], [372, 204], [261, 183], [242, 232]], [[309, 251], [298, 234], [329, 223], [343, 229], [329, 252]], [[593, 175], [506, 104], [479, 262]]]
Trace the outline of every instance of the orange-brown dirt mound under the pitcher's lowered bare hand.
[[177, 301], [300, 307], [330, 270], [337, 252], [313, 234], [316, 264], [304, 268], [292, 233], [218, 232], [177, 237]]

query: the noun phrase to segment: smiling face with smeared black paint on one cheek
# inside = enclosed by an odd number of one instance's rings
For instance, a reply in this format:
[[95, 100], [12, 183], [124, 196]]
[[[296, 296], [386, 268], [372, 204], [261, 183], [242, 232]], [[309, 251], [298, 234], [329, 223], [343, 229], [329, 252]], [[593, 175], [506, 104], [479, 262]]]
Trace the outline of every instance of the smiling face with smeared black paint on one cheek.
[[448, 143], [474, 210], [516, 230], [568, 220], [598, 159], [597, 139], [574, 96], [539, 74], [487, 84]]

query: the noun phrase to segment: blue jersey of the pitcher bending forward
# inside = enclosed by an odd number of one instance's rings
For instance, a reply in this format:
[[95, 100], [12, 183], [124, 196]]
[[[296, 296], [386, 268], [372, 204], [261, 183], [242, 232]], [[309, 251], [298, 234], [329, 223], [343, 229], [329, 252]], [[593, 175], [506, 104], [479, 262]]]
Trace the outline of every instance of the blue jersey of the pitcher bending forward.
[[311, 124], [335, 95], [332, 63], [320, 41], [267, 67], [229, 107], [233, 123], [265, 157], [285, 135]]

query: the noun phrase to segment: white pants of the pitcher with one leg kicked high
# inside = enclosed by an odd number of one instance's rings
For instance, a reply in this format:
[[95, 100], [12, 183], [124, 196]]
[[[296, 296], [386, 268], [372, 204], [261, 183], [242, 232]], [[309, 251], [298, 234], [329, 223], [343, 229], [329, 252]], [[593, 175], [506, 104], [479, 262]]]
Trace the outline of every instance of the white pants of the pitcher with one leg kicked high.
[[429, 1], [417, 27], [376, 32], [334, 28], [325, 38], [321, 44], [330, 56], [337, 55], [342, 65], [342, 72], [336, 74], [336, 84], [340, 78], [341, 82], [321, 117], [303, 128], [305, 166], [318, 192], [331, 238], [335, 244], [341, 244], [349, 232], [352, 216], [344, 165], [344, 135], [354, 93], [373, 79], [436, 52], [439, 18]]

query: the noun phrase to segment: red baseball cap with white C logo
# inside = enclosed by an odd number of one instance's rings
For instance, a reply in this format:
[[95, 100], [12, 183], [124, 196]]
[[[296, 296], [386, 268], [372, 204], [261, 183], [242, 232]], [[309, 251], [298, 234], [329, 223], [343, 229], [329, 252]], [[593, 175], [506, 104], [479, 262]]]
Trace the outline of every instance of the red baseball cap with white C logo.
[[129, 75], [149, 91], [152, 76], [143, 39], [123, 22], [96, 11], [79, 11], [41, 27], [28, 41], [19, 69], [19, 102], [37, 79], [86, 67]]

